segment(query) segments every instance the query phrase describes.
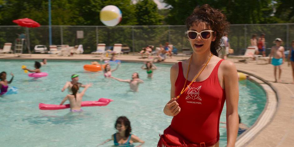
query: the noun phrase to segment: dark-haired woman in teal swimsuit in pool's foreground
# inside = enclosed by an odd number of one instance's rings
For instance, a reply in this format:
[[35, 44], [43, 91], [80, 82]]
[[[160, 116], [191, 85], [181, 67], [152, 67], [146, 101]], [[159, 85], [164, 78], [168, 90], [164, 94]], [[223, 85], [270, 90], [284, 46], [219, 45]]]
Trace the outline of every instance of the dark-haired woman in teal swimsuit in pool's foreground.
[[[137, 137], [136, 135], [131, 134], [131, 131], [132, 131], [131, 123], [129, 119], [125, 116], [120, 116], [119, 118], [116, 119], [114, 128], [117, 129], [118, 132], [114, 133], [111, 136], [111, 139], [105, 140], [102, 144], [105, 144], [113, 140], [114, 145], [117, 145], [117, 146], [134, 146], [133, 143], [139, 142], [141, 143], [137, 146], [139, 147], [145, 143], [145, 141], [139, 139], [139, 137]], [[99, 145], [102, 145], [102, 144], [99, 144]]]

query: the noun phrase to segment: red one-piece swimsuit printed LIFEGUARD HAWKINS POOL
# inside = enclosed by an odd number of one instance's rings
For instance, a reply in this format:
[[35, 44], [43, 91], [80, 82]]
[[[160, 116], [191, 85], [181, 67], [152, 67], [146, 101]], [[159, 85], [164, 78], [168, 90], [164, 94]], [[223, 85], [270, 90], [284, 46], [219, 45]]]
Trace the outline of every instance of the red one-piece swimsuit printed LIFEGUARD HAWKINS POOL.
[[[220, 60], [201, 82], [193, 82], [177, 99], [181, 111], [173, 117], [170, 127], [191, 143], [214, 145], [220, 139], [219, 122], [226, 95], [218, 80]], [[182, 63], [179, 62], [179, 74], [175, 82], [175, 95], [179, 95], [185, 84]], [[187, 80], [187, 85], [190, 81]]]

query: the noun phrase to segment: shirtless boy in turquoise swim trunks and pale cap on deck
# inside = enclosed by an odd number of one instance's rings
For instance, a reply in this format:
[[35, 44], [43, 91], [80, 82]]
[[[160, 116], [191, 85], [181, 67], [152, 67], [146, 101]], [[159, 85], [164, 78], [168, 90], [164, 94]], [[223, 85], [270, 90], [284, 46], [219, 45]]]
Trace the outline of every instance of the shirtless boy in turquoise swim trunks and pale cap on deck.
[[[281, 38], [276, 38], [273, 43], [276, 43], [276, 45], [271, 47], [270, 59], [268, 62], [271, 63], [272, 65], [274, 65], [275, 82], [280, 83], [281, 82], [281, 73], [282, 73], [281, 64], [283, 64], [285, 61], [285, 53], [284, 53], [285, 48], [281, 46], [281, 43], [282, 43]], [[272, 59], [271, 59], [271, 56], [273, 56]], [[276, 78], [276, 68], [277, 67], [279, 68], [278, 80]]]

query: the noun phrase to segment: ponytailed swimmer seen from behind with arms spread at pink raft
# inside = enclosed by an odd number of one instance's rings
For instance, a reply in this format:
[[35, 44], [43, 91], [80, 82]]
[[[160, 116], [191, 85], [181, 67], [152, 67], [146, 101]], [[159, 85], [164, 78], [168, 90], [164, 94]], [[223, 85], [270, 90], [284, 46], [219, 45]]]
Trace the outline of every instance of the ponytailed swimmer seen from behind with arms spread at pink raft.
[[86, 90], [92, 86], [92, 84], [87, 84], [85, 85], [84, 90], [81, 93], [78, 93], [79, 91], [79, 86], [78, 84], [73, 84], [73, 87], [71, 88], [73, 94], [68, 94], [60, 103], [60, 105], [63, 105], [63, 103], [66, 100], [69, 100], [69, 104], [70, 104], [70, 111], [71, 112], [80, 112], [83, 111], [83, 109], [81, 109], [81, 103], [83, 100], [83, 96], [86, 92]]

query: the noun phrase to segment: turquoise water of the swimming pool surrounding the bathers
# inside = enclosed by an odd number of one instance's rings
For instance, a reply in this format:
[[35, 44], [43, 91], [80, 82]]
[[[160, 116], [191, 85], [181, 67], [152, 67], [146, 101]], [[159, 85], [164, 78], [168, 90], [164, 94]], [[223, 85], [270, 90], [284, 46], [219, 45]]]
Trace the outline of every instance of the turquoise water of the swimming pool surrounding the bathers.
[[[156, 146], [159, 133], [170, 125], [172, 117], [163, 113], [163, 107], [170, 99], [170, 66], [156, 64], [159, 68], [154, 78], [148, 79], [139, 63], [122, 63], [112, 75], [120, 79], [130, 79], [138, 72], [139, 92], [129, 91], [127, 83], [105, 79], [101, 72], [86, 72], [84, 64], [89, 61], [49, 61], [41, 68], [48, 77], [34, 80], [21, 69], [21, 65], [33, 68], [33, 61], [1, 60], [0, 69], [13, 72], [15, 78], [10, 86], [18, 87], [18, 94], [0, 97], [0, 146], [96, 146], [115, 133], [117, 117], [129, 118], [132, 133], [145, 141], [143, 146]], [[112, 66], [112, 68], [115, 68]], [[0, 71], [0, 72], [1, 72]], [[79, 82], [93, 83], [84, 101], [109, 98], [114, 101], [105, 107], [83, 107], [82, 113], [63, 110], [39, 110], [38, 104], [59, 104], [67, 91], [61, 92], [72, 74], [79, 74]], [[244, 80], [239, 83], [239, 114], [242, 123], [251, 126], [261, 114], [266, 104], [264, 90], [255, 83]], [[226, 121], [226, 106], [221, 114]], [[220, 128], [220, 146], [226, 146], [226, 129]], [[108, 142], [104, 146], [111, 146]], [[138, 144], [135, 144], [138, 145]]]

